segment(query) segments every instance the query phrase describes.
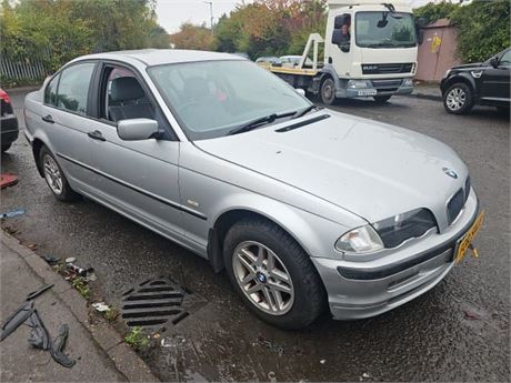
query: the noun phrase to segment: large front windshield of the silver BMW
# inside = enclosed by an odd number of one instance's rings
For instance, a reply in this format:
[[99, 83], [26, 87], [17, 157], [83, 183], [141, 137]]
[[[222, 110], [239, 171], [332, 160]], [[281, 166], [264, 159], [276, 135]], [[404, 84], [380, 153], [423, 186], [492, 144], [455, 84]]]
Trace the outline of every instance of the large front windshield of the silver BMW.
[[284, 81], [246, 60], [164, 64], [148, 72], [191, 140], [227, 135], [254, 119], [311, 104]]

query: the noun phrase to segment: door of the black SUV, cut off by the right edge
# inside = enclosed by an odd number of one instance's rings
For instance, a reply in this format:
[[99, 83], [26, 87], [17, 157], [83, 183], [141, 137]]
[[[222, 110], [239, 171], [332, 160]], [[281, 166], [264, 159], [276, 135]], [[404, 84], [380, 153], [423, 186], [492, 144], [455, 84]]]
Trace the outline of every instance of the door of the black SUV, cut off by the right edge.
[[481, 99], [487, 101], [510, 101], [511, 50], [500, 58], [497, 68], [489, 65], [481, 75]]

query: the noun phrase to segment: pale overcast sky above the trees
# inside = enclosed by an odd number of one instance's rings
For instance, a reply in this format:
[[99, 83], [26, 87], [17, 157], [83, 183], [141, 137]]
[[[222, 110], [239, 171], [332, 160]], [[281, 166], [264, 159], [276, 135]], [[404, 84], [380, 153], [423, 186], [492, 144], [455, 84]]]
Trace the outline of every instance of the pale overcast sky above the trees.
[[[244, 0], [250, 2], [251, 0]], [[412, 7], [420, 7], [431, 0], [409, 0]], [[435, 0], [439, 1], [439, 0]], [[236, 4], [242, 0], [212, 0], [214, 22], [218, 21], [223, 13], [232, 11]], [[176, 33], [179, 27], [187, 21], [194, 24], [206, 22], [210, 24], [209, 4], [203, 0], [158, 0], [157, 2], [158, 21], [167, 32]]]

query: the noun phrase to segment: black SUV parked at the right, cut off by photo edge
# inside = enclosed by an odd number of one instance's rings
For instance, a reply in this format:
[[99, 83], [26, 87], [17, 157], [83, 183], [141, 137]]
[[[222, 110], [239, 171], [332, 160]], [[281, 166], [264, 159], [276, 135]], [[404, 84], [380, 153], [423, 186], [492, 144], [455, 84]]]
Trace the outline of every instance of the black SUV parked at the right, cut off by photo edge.
[[445, 111], [465, 114], [475, 104], [509, 110], [510, 74], [510, 49], [484, 62], [449, 69], [440, 83]]

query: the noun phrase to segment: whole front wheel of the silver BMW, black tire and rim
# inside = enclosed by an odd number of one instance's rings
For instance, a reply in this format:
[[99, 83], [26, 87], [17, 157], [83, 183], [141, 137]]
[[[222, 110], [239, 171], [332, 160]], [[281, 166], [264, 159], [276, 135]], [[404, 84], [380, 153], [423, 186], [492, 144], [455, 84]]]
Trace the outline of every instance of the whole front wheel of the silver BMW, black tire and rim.
[[[260, 249], [267, 263], [257, 265], [259, 258], [254, 254], [259, 254]], [[240, 261], [238, 254], [242, 254], [246, 262]], [[270, 269], [270, 256], [273, 269]], [[278, 327], [297, 330], [314, 322], [323, 311], [327, 294], [314, 265], [303, 249], [278, 225], [263, 219], [236, 223], [226, 235], [223, 259], [232, 285], [249, 310], [261, 320]], [[289, 282], [283, 282], [285, 275]], [[249, 282], [241, 282], [243, 278]], [[275, 285], [279, 289], [273, 289]], [[260, 290], [248, 293], [247, 289]], [[279, 292], [280, 289], [283, 290]], [[265, 304], [269, 298], [273, 306]]]

